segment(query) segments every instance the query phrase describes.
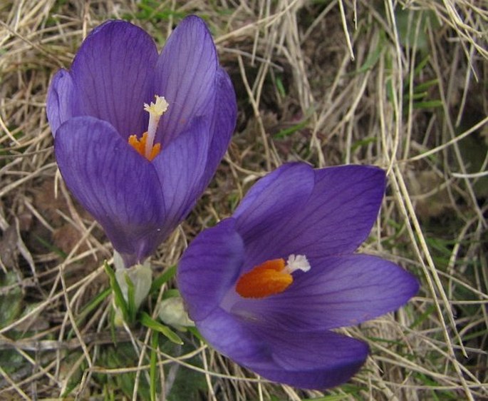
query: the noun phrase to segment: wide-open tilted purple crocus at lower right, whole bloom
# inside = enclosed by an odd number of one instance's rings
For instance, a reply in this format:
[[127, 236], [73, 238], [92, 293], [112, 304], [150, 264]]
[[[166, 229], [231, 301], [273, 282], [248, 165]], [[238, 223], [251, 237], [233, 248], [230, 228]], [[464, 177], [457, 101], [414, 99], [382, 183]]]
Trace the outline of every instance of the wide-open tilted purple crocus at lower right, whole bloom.
[[262, 178], [180, 261], [200, 333], [269, 380], [315, 389], [348, 380], [368, 345], [332, 330], [395, 310], [418, 289], [398, 265], [354, 253], [384, 192], [373, 166], [290, 163]]

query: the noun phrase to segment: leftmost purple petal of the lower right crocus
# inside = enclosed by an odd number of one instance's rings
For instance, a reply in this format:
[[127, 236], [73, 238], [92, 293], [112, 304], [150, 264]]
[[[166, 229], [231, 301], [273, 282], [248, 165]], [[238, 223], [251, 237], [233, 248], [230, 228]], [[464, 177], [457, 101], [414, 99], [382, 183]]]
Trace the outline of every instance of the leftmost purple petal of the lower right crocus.
[[237, 280], [243, 258], [244, 244], [233, 218], [204, 230], [192, 241], [177, 273], [178, 288], [190, 318], [202, 320], [218, 307]]

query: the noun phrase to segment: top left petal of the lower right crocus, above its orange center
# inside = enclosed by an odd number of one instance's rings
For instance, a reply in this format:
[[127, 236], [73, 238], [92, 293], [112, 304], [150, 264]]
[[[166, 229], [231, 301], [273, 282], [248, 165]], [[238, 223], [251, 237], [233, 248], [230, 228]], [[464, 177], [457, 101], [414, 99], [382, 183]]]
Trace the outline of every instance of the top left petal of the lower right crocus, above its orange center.
[[233, 217], [246, 243], [248, 268], [272, 258], [286, 258], [283, 249], [269, 247], [268, 243], [283, 230], [294, 232], [294, 226], [287, 222], [306, 206], [313, 178], [313, 169], [307, 164], [287, 163], [261, 178], [246, 193]]

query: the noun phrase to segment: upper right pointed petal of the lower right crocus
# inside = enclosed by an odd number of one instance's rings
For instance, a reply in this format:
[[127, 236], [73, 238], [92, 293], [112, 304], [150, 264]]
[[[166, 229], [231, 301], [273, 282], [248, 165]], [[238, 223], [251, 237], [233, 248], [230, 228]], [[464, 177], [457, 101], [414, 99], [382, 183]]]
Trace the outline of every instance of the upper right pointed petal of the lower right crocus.
[[[306, 255], [351, 253], [368, 237], [385, 193], [385, 171], [338, 166], [315, 171], [308, 202], [269, 238], [268, 248]], [[282, 257], [286, 257], [283, 255]]]

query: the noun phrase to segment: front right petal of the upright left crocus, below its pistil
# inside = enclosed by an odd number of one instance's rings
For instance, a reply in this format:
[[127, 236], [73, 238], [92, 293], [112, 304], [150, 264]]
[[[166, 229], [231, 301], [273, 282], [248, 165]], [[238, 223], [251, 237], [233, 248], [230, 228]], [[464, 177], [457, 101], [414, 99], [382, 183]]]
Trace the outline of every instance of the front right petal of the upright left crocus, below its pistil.
[[189, 129], [153, 161], [165, 198], [168, 234], [186, 217], [204, 191], [204, 170], [209, 152], [208, 124], [197, 118]]

